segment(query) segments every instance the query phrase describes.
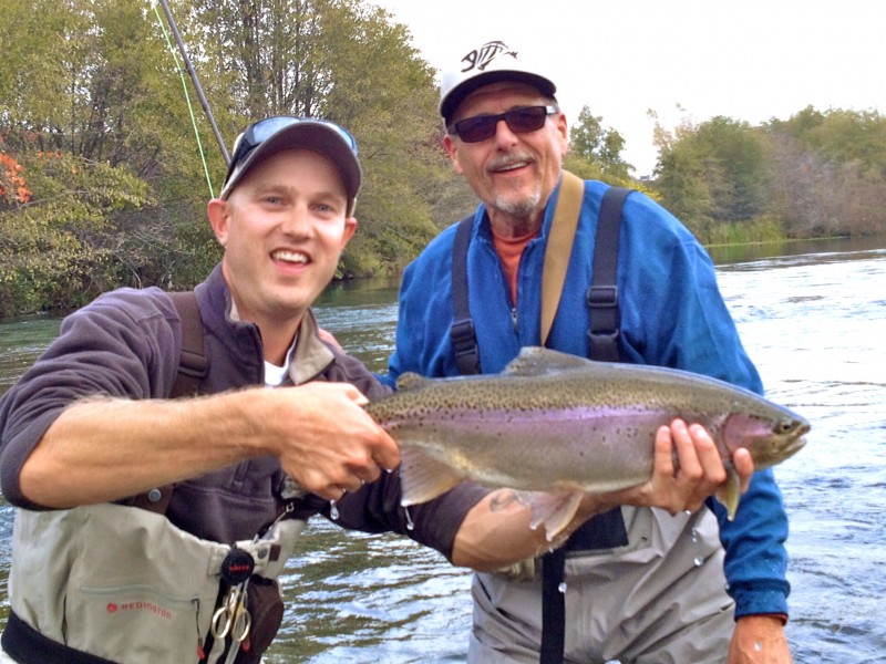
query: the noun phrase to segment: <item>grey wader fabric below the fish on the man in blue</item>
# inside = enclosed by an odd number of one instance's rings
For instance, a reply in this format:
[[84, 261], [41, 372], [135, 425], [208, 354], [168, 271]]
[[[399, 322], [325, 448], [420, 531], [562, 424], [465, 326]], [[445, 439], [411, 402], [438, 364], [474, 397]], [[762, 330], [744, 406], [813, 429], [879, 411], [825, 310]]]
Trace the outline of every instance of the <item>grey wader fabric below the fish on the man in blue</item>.
[[[734, 627], [713, 513], [622, 508], [628, 546], [566, 559], [565, 662], [713, 664]], [[538, 566], [540, 568], [540, 566]], [[538, 662], [542, 582], [475, 574], [470, 664]]]

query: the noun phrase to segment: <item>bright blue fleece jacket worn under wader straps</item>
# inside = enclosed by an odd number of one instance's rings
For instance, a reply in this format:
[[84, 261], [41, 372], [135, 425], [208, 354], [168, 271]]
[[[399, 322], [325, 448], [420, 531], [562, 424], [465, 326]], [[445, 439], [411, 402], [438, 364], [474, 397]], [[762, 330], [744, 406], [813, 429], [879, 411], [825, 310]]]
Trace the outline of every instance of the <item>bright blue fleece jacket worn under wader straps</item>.
[[[607, 185], [586, 181], [569, 268], [548, 346], [588, 356], [594, 240]], [[555, 191], [542, 232], [526, 247], [517, 276], [517, 302], [493, 247], [488, 217], [481, 205], [467, 255], [471, 313], [484, 373], [496, 373], [519, 349], [539, 345], [540, 283], [553, 219]], [[680, 221], [647, 196], [625, 203], [618, 259], [621, 312], [620, 353], [637, 364], [707, 374], [756, 393], [763, 387], [720, 294], [714, 267]], [[450, 342], [452, 245], [455, 226], [437, 236], [405, 270], [400, 291], [396, 351], [387, 382], [406, 371], [425, 376], [459, 375]], [[720, 522], [724, 571], [735, 599], [735, 616], [787, 613], [785, 579], [787, 517], [771, 470], [754, 475], [734, 521], [708, 501]]]

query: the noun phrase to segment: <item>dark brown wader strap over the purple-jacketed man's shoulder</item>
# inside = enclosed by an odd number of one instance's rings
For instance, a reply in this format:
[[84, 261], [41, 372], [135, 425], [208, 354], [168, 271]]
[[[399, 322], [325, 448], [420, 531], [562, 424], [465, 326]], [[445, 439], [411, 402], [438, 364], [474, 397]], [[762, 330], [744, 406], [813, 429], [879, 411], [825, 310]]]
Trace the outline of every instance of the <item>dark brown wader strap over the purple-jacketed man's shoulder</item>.
[[[197, 307], [197, 297], [194, 291], [166, 294], [172, 299], [178, 318], [182, 319], [182, 354], [169, 398], [195, 396], [208, 366], [203, 345], [203, 321]], [[173, 485], [166, 485], [138, 494], [128, 501], [128, 505], [165, 515], [172, 497]]]

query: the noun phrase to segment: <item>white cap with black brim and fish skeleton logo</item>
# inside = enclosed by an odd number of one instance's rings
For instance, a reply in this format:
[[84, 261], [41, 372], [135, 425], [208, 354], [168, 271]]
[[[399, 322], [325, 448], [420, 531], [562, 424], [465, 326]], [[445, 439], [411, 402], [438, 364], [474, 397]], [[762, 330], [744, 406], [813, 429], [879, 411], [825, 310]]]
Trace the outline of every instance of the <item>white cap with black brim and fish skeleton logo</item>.
[[544, 68], [523, 58], [503, 41], [486, 42], [468, 51], [459, 65], [443, 73], [440, 85], [440, 115], [449, 124], [452, 114], [468, 94], [490, 83], [528, 83], [545, 96], [554, 97], [557, 86]]

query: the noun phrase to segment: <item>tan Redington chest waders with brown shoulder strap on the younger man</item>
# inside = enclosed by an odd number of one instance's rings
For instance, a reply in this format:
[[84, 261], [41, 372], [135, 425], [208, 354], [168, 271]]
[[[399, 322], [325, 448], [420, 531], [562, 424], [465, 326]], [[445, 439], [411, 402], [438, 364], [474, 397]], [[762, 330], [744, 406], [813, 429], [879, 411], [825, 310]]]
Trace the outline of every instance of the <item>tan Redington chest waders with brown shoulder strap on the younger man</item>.
[[[167, 294], [183, 328], [169, 397], [194, 396], [208, 370], [199, 309], [193, 292]], [[20, 662], [258, 664], [282, 620], [276, 578], [305, 527], [286, 518], [297, 497], [260, 538], [228, 546], [175, 527], [165, 516], [172, 494], [166, 485], [119, 504], [19, 510], [6, 653]], [[235, 609], [249, 619], [223, 633], [214, 616], [244, 561], [251, 574]]]

